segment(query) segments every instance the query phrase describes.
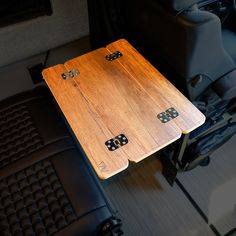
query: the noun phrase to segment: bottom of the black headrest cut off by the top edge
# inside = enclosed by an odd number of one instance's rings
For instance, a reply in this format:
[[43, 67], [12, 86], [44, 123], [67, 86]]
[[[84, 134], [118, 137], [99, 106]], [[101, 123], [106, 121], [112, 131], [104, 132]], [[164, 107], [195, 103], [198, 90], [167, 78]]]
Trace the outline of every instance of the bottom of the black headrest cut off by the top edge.
[[159, 0], [163, 5], [171, 8], [174, 11], [182, 11], [185, 10], [192, 5], [201, 2], [202, 0]]

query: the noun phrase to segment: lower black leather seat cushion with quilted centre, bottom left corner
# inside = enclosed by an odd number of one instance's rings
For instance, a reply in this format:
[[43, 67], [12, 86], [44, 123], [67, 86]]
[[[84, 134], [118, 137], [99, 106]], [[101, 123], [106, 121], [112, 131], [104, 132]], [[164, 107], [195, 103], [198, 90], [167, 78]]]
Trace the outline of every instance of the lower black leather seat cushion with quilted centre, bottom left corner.
[[0, 235], [96, 235], [112, 216], [76, 149], [21, 162], [0, 172]]

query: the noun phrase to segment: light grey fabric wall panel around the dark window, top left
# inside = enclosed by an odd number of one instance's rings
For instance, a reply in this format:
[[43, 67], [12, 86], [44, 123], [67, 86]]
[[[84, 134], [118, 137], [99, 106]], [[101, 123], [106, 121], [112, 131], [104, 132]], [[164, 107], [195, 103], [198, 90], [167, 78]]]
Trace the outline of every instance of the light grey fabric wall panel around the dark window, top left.
[[89, 34], [86, 0], [52, 0], [53, 14], [0, 29], [0, 66]]

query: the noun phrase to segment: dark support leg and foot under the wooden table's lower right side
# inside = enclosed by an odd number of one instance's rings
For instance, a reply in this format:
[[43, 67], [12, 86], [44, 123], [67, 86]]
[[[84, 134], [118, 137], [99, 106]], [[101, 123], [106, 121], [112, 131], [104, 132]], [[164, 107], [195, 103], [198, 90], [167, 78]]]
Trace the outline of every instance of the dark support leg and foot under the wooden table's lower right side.
[[171, 186], [174, 185], [178, 171], [184, 170], [185, 164], [182, 162], [182, 159], [187, 147], [188, 139], [189, 134], [183, 134], [177, 141], [174, 153], [161, 158], [163, 166], [162, 174]]

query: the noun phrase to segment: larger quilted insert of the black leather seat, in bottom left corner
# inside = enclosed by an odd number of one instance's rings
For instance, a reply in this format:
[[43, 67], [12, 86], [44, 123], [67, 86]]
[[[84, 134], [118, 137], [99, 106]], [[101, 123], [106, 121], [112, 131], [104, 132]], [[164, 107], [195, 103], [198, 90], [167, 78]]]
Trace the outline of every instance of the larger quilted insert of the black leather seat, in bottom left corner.
[[77, 218], [49, 160], [0, 180], [0, 235], [46, 236]]

